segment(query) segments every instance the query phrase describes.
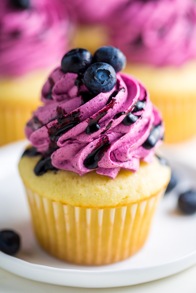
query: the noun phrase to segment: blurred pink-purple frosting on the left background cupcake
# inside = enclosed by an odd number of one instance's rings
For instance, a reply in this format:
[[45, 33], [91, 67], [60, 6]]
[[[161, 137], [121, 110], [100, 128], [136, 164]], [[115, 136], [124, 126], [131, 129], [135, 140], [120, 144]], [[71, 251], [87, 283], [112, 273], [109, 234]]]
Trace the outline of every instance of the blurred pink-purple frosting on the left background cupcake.
[[70, 37], [67, 5], [61, 0], [30, 0], [30, 7], [22, 10], [10, 2], [0, 1], [0, 76], [57, 64]]

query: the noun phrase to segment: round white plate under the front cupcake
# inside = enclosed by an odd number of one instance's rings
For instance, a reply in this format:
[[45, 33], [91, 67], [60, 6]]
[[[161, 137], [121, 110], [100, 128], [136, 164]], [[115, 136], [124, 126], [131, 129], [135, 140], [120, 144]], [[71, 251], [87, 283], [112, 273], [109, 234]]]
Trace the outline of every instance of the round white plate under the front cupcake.
[[140, 252], [128, 260], [98, 267], [79, 266], [57, 260], [36, 244], [30, 223], [17, 161], [26, 142], [0, 148], [0, 229], [14, 229], [22, 247], [16, 257], [0, 252], [0, 267], [16, 275], [45, 283], [73, 287], [120, 287], [180, 272], [196, 264], [196, 215], [177, 209], [177, 195], [196, 188], [196, 170], [171, 162], [179, 176], [178, 186], [164, 197], [155, 215], [149, 238]]

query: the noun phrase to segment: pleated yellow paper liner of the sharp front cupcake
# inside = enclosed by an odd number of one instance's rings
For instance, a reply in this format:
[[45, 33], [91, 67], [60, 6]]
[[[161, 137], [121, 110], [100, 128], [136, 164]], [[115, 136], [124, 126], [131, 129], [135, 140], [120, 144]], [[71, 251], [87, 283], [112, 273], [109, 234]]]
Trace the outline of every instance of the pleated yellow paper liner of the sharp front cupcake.
[[41, 247], [61, 260], [85, 265], [111, 264], [136, 253], [145, 243], [164, 191], [128, 206], [87, 209], [63, 205], [26, 188]]

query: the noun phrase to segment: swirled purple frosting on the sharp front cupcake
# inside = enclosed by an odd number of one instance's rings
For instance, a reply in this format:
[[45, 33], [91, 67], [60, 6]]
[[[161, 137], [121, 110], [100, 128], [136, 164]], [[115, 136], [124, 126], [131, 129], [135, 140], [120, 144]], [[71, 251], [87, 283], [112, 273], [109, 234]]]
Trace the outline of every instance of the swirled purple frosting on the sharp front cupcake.
[[[164, 132], [161, 115], [140, 81], [128, 74], [116, 76], [110, 92], [93, 95], [81, 75], [60, 67], [51, 73], [42, 89], [44, 106], [34, 112], [25, 132], [53, 167], [79, 175], [96, 170], [115, 178], [121, 168], [134, 172], [140, 160], [151, 162]], [[127, 125], [130, 112], [135, 122]], [[146, 146], [155, 129], [154, 146]]]

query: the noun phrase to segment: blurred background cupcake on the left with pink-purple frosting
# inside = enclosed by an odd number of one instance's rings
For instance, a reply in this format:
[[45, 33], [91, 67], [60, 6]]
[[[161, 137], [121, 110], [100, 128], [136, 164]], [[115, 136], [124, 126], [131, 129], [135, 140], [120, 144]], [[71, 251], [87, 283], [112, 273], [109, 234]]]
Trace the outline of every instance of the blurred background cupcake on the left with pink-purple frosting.
[[24, 137], [39, 94], [73, 26], [60, 0], [0, 1], [0, 145]]

